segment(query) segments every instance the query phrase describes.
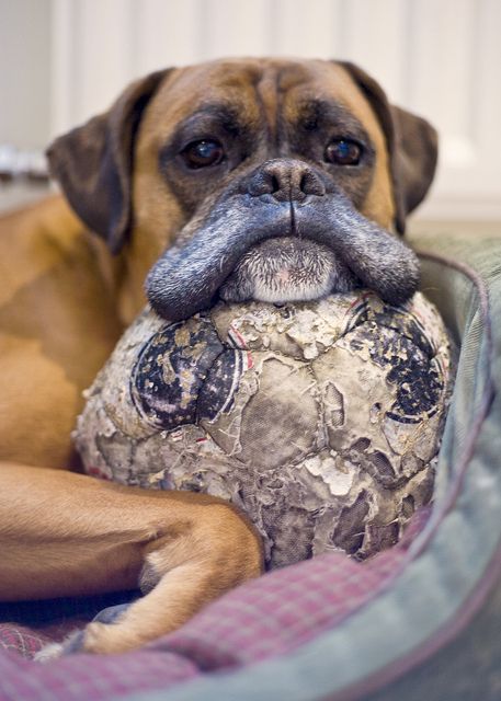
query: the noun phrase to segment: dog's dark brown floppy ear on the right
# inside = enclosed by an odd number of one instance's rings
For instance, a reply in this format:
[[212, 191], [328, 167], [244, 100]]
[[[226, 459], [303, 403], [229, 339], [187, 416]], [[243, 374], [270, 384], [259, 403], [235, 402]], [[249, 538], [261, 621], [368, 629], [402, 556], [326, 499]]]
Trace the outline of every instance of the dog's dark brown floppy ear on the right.
[[395, 197], [395, 225], [406, 230], [406, 217], [424, 198], [437, 160], [437, 134], [425, 119], [389, 104], [380, 85], [350, 61], [340, 61], [369, 101], [386, 136]]

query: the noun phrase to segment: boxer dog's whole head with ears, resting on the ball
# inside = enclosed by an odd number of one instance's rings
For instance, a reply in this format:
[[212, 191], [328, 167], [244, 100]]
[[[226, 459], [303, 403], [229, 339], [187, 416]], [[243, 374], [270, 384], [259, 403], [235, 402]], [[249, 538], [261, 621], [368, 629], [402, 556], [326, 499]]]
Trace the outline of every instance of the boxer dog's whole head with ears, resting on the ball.
[[[436, 136], [352, 64], [234, 59], [152, 73], [56, 140], [53, 174], [179, 320], [210, 306], [419, 281], [397, 235], [424, 197]], [[148, 272], [149, 271], [149, 272]]]

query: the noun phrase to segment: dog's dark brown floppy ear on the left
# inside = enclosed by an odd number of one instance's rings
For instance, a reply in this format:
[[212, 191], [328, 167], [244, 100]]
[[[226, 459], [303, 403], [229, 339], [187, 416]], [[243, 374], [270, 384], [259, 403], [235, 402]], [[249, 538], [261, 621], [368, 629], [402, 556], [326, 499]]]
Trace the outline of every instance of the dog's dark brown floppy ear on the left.
[[168, 72], [132, 83], [109, 112], [59, 137], [47, 150], [50, 174], [71, 207], [113, 253], [132, 223], [134, 143], [141, 114]]

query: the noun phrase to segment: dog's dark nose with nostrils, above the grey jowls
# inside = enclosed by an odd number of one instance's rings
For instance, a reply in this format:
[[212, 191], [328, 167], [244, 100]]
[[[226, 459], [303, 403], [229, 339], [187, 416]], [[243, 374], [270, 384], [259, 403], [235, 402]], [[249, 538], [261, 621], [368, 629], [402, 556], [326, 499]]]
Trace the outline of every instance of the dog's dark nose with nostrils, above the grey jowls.
[[273, 195], [277, 202], [304, 202], [308, 195], [321, 197], [326, 194], [326, 187], [307, 163], [294, 159], [274, 159], [254, 171], [248, 192], [252, 197]]

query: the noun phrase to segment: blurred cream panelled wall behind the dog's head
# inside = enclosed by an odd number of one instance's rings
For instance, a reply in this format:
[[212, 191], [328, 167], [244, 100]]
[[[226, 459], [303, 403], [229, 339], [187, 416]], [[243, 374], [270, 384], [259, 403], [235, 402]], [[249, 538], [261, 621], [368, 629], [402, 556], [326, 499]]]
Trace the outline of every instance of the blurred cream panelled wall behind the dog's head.
[[237, 55], [344, 58], [441, 136], [414, 222], [501, 229], [500, 0], [0, 0], [0, 209], [43, 195], [48, 141], [137, 76]]

